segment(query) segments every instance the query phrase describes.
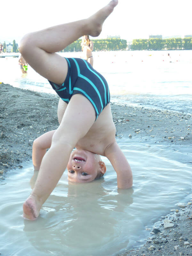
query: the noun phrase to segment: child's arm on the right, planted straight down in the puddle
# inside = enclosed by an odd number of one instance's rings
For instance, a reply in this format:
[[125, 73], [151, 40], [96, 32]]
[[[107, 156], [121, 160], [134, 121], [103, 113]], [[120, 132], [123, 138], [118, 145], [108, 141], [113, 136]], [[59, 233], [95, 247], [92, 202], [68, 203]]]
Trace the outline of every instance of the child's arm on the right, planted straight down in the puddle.
[[117, 187], [131, 188], [133, 185], [131, 167], [116, 141], [105, 149], [105, 156], [117, 173]]

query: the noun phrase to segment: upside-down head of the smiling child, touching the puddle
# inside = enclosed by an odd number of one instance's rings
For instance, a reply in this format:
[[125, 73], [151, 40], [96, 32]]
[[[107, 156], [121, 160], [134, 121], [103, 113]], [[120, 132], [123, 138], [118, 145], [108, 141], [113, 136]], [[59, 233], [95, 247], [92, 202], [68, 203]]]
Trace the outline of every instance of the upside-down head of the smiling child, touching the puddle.
[[71, 153], [67, 169], [68, 180], [81, 183], [98, 179], [106, 172], [100, 156], [84, 149], [76, 149]]

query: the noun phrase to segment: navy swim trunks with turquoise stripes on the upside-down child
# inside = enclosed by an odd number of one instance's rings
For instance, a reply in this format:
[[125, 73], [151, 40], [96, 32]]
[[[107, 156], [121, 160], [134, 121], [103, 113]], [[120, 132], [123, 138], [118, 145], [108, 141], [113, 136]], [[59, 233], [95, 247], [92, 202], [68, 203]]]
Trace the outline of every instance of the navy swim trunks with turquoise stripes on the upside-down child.
[[62, 85], [49, 83], [59, 95], [59, 97], [69, 102], [74, 94], [84, 95], [95, 109], [96, 119], [110, 102], [108, 83], [105, 78], [98, 73], [90, 63], [79, 58], [65, 58], [68, 62], [68, 73]]

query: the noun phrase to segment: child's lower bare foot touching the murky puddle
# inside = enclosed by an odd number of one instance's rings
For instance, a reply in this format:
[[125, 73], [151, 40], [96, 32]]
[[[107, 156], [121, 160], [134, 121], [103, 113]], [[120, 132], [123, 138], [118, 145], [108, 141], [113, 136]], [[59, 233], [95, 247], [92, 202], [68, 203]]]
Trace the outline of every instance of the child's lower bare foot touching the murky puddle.
[[30, 195], [23, 204], [23, 217], [28, 220], [36, 220], [42, 204], [38, 202], [34, 195]]

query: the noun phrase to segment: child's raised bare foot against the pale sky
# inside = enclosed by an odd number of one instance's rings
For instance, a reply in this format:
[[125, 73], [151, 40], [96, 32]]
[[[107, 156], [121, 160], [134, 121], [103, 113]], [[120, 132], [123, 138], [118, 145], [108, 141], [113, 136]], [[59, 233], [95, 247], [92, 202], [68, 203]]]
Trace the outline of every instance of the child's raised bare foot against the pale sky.
[[114, 7], [118, 4], [118, 0], [112, 0], [108, 5], [93, 14], [89, 20], [89, 33], [90, 36], [99, 36], [102, 30], [103, 22], [107, 19], [109, 14], [113, 12]]

